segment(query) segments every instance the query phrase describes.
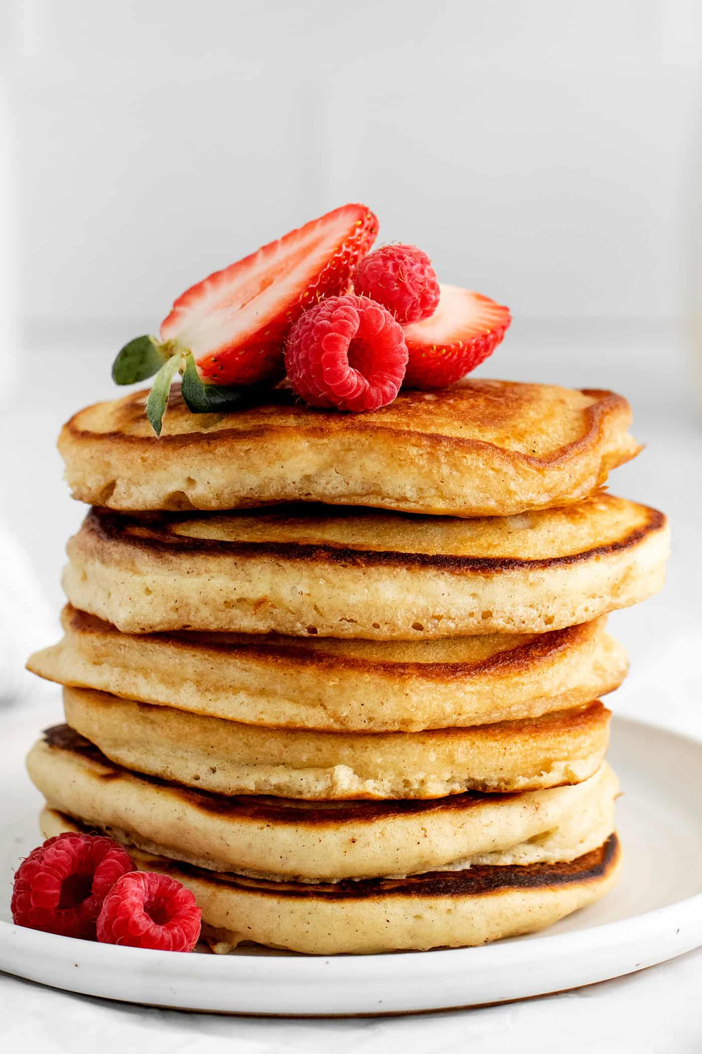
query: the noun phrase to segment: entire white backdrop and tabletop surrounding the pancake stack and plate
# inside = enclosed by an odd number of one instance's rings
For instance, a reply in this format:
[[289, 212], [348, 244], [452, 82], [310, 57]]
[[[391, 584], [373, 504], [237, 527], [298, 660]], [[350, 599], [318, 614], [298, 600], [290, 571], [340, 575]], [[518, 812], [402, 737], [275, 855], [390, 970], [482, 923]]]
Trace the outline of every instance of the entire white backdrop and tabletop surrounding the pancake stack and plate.
[[[443, 279], [510, 305], [484, 375], [629, 397], [648, 449], [611, 483], [670, 513], [675, 546], [666, 590], [612, 620], [632, 662], [612, 705], [702, 736], [701, 43], [696, 0], [0, 4], [7, 718], [45, 690], [21, 664], [56, 636], [83, 511], [61, 482], [62, 421], [111, 397], [117, 348], [186, 286], [363, 200], [381, 240], [416, 242]], [[679, 1054], [702, 1050], [701, 984], [697, 953], [514, 1007], [314, 1024], [110, 1009], [0, 977], [0, 1018], [16, 1045], [81, 1054], [122, 1039]]]

